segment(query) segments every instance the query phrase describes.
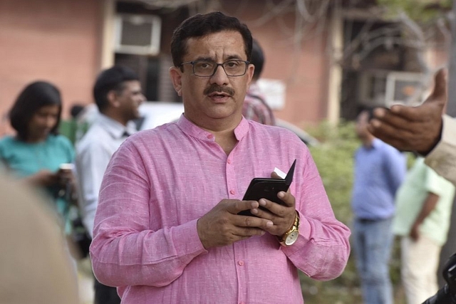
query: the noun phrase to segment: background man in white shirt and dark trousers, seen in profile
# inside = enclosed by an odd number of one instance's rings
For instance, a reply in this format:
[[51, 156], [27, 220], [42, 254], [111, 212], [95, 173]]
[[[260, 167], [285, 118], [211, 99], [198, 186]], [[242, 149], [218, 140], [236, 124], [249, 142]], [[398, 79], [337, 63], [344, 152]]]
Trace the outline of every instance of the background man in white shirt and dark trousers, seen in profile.
[[[93, 220], [98, 206], [98, 192], [108, 162], [128, 137], [136, 132], [138, 108], [145, 101], [138, 75], [120, 65], [103, 70], [93, 88], [99, 110], [76, 149], [76, 171], [81, 190], [80, 206], [83, 223], [93, 236]], [[117, 288], [95, 279], [95, 303], [118, 304]]]

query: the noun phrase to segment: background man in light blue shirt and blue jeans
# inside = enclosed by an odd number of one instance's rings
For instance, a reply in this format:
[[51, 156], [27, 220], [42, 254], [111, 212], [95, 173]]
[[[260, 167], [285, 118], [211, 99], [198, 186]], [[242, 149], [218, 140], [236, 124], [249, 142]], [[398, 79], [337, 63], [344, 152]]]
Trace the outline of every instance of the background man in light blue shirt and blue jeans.
[[362, 145], [356, 150], [353, 179], [352, 238], [356, 267], [366, 304], [392, 304], [389, 261], [395, 192], [407, 171], [405, 155], [368, 132], [371, 112], [356, 121]]

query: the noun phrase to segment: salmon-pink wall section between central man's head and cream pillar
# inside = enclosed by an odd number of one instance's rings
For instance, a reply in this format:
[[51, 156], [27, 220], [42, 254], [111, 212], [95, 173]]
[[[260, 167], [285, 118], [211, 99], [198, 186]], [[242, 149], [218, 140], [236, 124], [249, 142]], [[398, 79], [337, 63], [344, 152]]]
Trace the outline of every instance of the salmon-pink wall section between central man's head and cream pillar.
[[296, 12], [291, 9], [276, 18], [261, 19], [270, 14], [265, 2], [249, 0], [248, 6], [239, 9], [238, 1], [226, 0], [221, 9], [246, 23], [264, 49], [266, 61], [261, 77], [286, 84], [285, 105], [274, 111], [276, 117], [301, 127], [326, 119], [329, 20], [323, 17], [318, 23], [302, 23], [296, 28]]

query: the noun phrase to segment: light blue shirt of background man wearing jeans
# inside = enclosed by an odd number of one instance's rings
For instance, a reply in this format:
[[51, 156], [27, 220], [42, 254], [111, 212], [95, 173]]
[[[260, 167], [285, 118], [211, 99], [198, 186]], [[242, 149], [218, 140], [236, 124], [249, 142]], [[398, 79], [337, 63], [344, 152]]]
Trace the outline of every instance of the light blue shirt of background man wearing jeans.
[[395, 192], [407, 172], [407, 159], [375, 138], [355, 154], [352, 209], [358, 219], [388, 219], [395, 212]]

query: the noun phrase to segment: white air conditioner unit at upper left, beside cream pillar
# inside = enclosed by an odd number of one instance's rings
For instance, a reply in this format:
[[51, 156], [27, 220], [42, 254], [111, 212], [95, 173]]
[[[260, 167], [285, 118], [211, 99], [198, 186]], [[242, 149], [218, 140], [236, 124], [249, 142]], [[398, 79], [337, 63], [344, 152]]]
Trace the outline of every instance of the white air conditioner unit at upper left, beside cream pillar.
[[115, 17], [115, 52], [157, 55], [160, 53], [161, 27], [158, 16], [118, 14]]

